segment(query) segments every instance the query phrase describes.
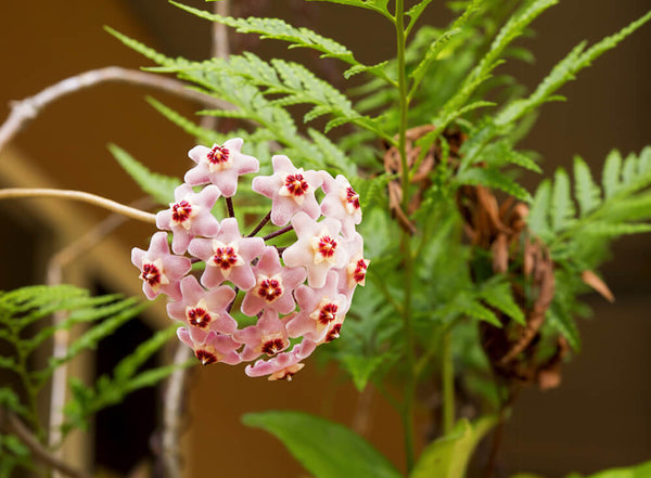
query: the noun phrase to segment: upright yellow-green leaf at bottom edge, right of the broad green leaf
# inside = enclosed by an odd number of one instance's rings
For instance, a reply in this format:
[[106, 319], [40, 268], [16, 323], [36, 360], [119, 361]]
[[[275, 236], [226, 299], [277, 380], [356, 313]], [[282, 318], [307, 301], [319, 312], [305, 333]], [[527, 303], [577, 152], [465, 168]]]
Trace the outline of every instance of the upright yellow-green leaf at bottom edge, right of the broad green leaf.
[[494, 416], [482, 417], [474, 424], [460, 419], [449, 435], [423, 450], [409, 478], [463, 478], [473, 451], [496, 423]]

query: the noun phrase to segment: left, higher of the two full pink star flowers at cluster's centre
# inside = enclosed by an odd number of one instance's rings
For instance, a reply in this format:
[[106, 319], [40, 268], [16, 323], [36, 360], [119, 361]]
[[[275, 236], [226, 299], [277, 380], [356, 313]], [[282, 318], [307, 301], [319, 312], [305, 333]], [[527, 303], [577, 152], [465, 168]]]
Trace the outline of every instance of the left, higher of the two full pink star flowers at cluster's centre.
[[215, 287], [230, 281], [242, 290], [255, 285], [251, 261], [265, 248], [261, 237], [242, 237], [235, 218], [221, 221], [221, 230], [213, 240], [195, 238], [188, 250], [206, 263], [201, 282], [206, 287]]

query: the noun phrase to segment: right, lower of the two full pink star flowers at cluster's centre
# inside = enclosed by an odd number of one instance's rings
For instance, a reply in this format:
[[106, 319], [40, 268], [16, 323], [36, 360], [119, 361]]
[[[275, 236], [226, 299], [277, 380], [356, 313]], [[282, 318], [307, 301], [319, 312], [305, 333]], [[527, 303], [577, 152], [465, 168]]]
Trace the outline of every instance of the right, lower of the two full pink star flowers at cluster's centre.
[[295, 309], [292, 293], [305, 281], [305, 269], [283, 268], [276, 247], [265, 247], [254, 273], [256, 284], [244, 296], [242, 312], [253, 316], [263, 309], [279, 313], [290, 313]]

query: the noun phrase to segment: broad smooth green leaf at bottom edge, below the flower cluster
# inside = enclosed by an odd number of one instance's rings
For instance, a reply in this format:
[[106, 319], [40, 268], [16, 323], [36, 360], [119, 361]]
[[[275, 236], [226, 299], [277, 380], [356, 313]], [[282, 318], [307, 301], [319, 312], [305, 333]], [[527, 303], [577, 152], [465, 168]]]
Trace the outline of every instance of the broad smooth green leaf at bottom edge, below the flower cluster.
[[248, 413], [244, 425], [261, 428], [318, 478], [400, 478], [400, 473], [363, 438], [343, 425], [301, 412]]

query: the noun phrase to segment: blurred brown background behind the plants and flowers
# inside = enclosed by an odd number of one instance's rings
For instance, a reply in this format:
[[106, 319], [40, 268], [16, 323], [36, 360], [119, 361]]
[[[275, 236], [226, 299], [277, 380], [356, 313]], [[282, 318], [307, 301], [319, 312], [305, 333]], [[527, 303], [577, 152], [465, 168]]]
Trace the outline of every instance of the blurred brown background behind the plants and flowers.
[[[212, 3], [201, 0], [187, 3], [212, 8]], [[239, 4], [243, 3], [240, 0]], [[508, 68], [534, 86], [578, 41], [596, 41], [610, 35], [650, 7], [648, 0], [563, 1], [534, 23], [537, 38], [525, 40], [537, 57], [536, 64], [512, 64]], [[365, 63], [393, 54], [391, 30], [382, 18], [372, 18], [365, 11], [276, 0], [267, 14], [316, 27], [357, 50], [356, 56]], [[448, 14], [434, 2], [431, 17], [441, 18], [441, 25]], [[145, 64], [107, 35], [103, 25], [169, 55], [199, 60], [209, 54], [208, 24], [164, 0], [4, 0], [0, 2], [0, 118], [9, 114], [11, 100], [33, 95], [71, 75], [106, 65]], [[268, 42], [263, 46], [277, 54], [285, 51]], [[569, 103], [544, 107], [524, 146], [542, 154], [547, 175], [560, 165], [571, 167], [574, 154], [580, 154], [598, 170], [612, 147], [623, 153], [639, 152], [651, 143], [650, 46], [651, 26], [647, 25], [564, 87], [561, 93], [570, 99]], [[0, 154], [0, 164], [10, 169], [9, 173], [13, 171], [13, 179], [0, 178], [0, 185], [61, 186], [131, 202], [141, 194], [108, 154], [108, 142], [117, 143], [154, 170], [181, 177], [189, 165], [186, 152], [193, 145], [192, 138], [151, 108], [143, 100], [145, 94], [188, 116], [196, 109], [191, 103], [126, 85], [103, 85], [67, 96], [48, 107], [11, 148]], [[538, 178], [528, 181], [533, 188]], [[105, 216], [98, 209], [75, 205], [72, 217], [60, 217], [64, 204], [53, 202], [5, 202], [2, 206], [0, 288], [41, 282], [48, 254]], [[65, 233], [58, 231], [61, 227]], [[24, 235], [17, 236], [16, 231]], [[145, 247], [151, 233], [142, 224], [122, 227], [111, 243], [115, 256], [87, 257], [85, 273], [77, 274], [77, 279], [87, 285], [90, 281], [98, 288], [137, 292], [139, 281], [129, 262], [129, 249], [133, 245]], [[529, 470], [551, 478], [571, 470], [596, 471], [651, 458], [649, 236], [620, 242], [614, 257], [616, 261], [603, 272], [616, 303], [609, 305], [599, 297], [590, 300], [595, 316], [582, 323], [584, 350], [564, 367], [560, 389], [546, 393], [528, 390], [521, 397], [507, 427], [501, 476]], [[97, 267], [106, 259], [113, 268], [111, 274]], [[122, 271], [127, 275], [117, 280]], [[73, 277], [71, 272], [68, 280]], [[149, 326], [157, 321], [150, 320]], [[137, 337], [146, 332], [129, 334]], [[331, 372], [318, 372], [316, 366], [309, 366], [292, 383], [270, 384], [246, 378], [242, 367], [196, 369], [190, 388], [184, 436], [187, 476], [302, 476], [301, 467], [275, 439], [240, 425], [240, 415], [296, 408], [349, 424], [357, 402], [350, 387], [341, 385]], [[144, 404], [141, 401], [138, 405], [144, 406], [140, 414], [155, 415], [156, 392], [143, 397]], [[370, 440], [401, 467], [397, 416], [378, 397], [372, 413]], [[138, 454], [124, 448], [131, 443], [133, 422], [119, 425], [117, 418], [113, 419], [117, 428], [110, 432], [103, 428], [106, 419], [98, 419], [95, 436], [105, 441], [93, 439], [87, 444], [95, 443], [94, 461], [101, 466], [125, 471], [137, 464], [131, 456]], [[155, 416], [148, 419], [153, 423]], [[151, 444], [148, 436], [141, 439], [144, 452]]]

